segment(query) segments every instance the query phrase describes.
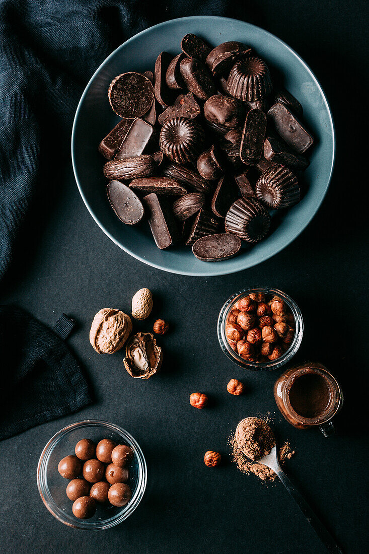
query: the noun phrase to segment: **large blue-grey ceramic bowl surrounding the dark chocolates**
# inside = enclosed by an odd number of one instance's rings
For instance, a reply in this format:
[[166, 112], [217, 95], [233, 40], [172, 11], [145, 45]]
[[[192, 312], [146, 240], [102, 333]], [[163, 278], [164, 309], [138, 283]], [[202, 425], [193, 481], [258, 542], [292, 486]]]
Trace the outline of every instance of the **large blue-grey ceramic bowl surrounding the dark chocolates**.
[[[310, 166], [304, 174], [307, 193], [300, 203], [283, 214], [268, 238], [243, 250], [236, 258], [217, 263], [199, 261], [188, 247], [159, 250], [147, 222], [137, 227], [121, 223], [106, 197], [106, 179], [102, 175], [104, 158], [98, 153], [101, 139], [119, 121], [107, 99], [111, 80], [124, 71], [153, 70], [157, 55], [162, 50], [172, 54], [180, 52], [181, 39], [190, 32], [213, 45], [226, 40], [250, 44], [261, 58], [284, 76], [285, 87], [304, 107], [304, 121], [315, 138], [315, 145], [309, 152]], [[81, 196], [91, 216], [111, 240], [131, 256], [155, 268], [184, 275], [210, 276], [259, 264], [290, 244], [305, 229], [329, 186], [335, 156], [335, 133], [324, 92], [294, 50], [274, 35], [249, 23], [199, 16], [173, 19], [146, 29], [127, 40], [100, 65], [79, 102], [71, 150]]]

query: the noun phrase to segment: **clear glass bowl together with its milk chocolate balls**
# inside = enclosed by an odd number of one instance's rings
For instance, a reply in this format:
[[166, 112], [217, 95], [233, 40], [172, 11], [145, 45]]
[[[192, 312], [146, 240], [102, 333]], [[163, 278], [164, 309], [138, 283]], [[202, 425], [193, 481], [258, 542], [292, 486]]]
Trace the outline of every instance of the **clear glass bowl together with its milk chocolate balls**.
[[69, 527], [99, 531], [124, 521], [146, 488], [142, 450], [125, 429], [85, 420], [61, 429], [43, 449], [37, 468], [41, 498]]

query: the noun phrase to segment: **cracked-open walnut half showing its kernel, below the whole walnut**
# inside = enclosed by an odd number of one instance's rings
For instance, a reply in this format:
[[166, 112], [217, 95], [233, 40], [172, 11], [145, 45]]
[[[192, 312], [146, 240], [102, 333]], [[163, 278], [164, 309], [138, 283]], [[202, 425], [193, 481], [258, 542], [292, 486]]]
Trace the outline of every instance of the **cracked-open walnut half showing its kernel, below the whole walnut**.
[[151, 333], [137, 333], [126, 345], [124, 367], [132, 377], [148, 379], [160, 370], [163, 354]]

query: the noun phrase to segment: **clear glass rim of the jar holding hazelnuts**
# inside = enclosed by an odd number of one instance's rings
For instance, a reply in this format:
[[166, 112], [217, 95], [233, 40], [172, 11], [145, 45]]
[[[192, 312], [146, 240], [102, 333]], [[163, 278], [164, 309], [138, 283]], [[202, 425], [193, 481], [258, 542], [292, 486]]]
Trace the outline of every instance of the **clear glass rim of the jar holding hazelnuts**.
[[[270, 360], [269, 362], [248, 362], [247, 360], [244, 360], [243, 358], [241, 358], [228, 345], [228, 341], [225, 338], [225, 322], [227, 321], [226, 316], [228, 316], [235, 302], [239, 300], [239, 297], [242, 295], [245, 295], [246, 293], [247, 294], [265, 293], [265, 294], [280, 295], [291, 309], [291, 312], [295, 318], [295, 325], [296, 325], [294, 340], [291, 343], [288, 350], [284, 352], [283, 356], [280, 356], [276, 360]], [[233, 293], [224, 302], [218, 316], [217, 334], [218, 334], [218, 341], [219, 341], [219, 344], [221, 345], [222, 351], [229, 358], [229, 360], [232, 360], [233, 363], [247, 370], [271, 371], [271, 370], [277, 369], [278, 367], [284, 366], [293, 358], [295, 353], [299, 350], [301, 341], [303, 340], [304, 320], [299, 306], [296, 304], [293, 298], [291, 298], [291, 296], [284, 293], [282, 290], [270, 288], [268, 286], [253, 286], [253, 287], [248, 287], [246, 289], [242, 289], [237, 293]]]

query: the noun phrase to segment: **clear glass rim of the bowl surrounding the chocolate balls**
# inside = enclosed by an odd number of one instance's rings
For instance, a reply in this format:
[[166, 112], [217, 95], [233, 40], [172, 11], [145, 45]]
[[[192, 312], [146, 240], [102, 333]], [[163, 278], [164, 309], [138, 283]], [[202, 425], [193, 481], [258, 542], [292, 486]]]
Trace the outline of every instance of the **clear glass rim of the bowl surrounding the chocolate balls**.
[[[134, 447], [135, 456], [137, 458], [137, 463], [139, 466], [137, 486], [134, 494], [132, 495], [131, 501], [126, 506], [123, 506], [121, 511], [118, 514], [115, 514], [109, 519], [106, 519], [103, 521], [100, 520], [100, 521], [94, 522], [90, 520], [77, 520], [77, 519], [74, 520], [72, 519], [71, 516], [69, 515], [66, 516], [65, 512], [59, 508], [58, 504], [53, 499], [53, 496], [50, 493], [50, 490], [47, 484], [48, 463], [49, 463], [50, 455], [52, 454], [55, 446], [59, 443], [59, 441], [63, 437], [66, 437], [66, 435], [68, 435], [71, 431], [74, 431], [75, 429], [82, 429], [84, 427], [101, 427], [101, 428], [109, 429], [110, 431], [114, 431], [117, 434], [121, 435], [122, 438], [124, 438], [125, 440], [131, 443], [130, 446]], [[127, 517], [129, 517], [132, 514], [132, 512], [136, 509], [136, 507], [140, 504], [143, 494], [145, 493], [146, 483], [147, 483], [146, 460], [145, 460], [145, 456], [143, 456], [143, 452], [140, 448], [140, 445], [137, 443], [136, 439], [132, 437], [132, 435], [129, 432], [127, 432], [119, 425], [109, 423], [101, 419], [83, 419], [83, 420], [79, 420], [77, 422], [71, 423], [69, 425], [66, 425], [66, 427], [64, 427], [63, 429], [60, 429], [57, 433], [53, 435], [53, 437], [48, 441], [48, 443], [43, 448], [37, 464], [37, 486], [44, 505], [47, 507], [50, 514], [52, 514], [58, 521], [60, 521], [64, 525], [73, 527], [73, 529], [100, 531], [104, 529], [109, 529], [110, 527], [113, 527], [121, 523], [122, 521], [127, 519]]]

